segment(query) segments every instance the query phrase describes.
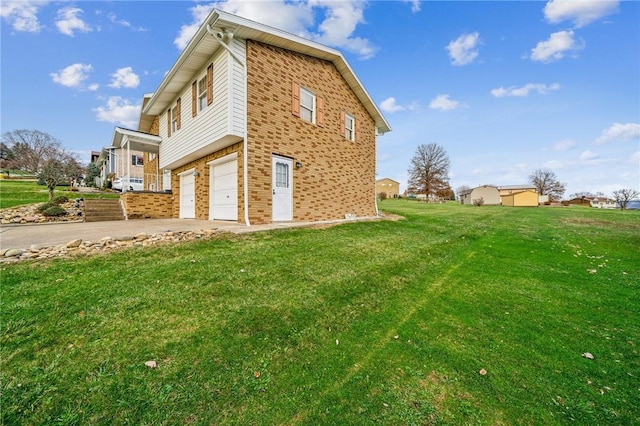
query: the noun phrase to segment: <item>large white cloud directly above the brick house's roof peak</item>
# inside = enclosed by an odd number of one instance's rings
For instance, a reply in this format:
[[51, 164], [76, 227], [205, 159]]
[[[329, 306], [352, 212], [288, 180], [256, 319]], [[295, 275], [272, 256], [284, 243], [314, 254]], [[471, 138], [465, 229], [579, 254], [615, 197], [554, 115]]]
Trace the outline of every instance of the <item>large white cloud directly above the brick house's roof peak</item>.
[[[184, 49], [204, 22], [212, 8], [261, 22], [318, 43], [344, 49], [357, 54], [361, 59], [373, 57], [377, 51], [368, 39], [354, 37], [356, 27], [365, 23], [366, 2], [349, 0], [310, 0], [308, 2], [289, 1], [244, 1], [223, 0], [191, 8], [192, 22], [180, 28], [173, 43]], [[324, 19], [317, 28], [314, 17]]]

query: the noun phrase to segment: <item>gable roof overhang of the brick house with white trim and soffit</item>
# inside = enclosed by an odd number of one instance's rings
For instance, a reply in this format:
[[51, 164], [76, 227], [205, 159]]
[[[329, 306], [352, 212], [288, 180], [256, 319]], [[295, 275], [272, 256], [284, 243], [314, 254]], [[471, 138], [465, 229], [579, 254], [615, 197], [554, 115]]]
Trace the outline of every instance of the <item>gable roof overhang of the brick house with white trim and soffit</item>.
[[213, 52], [220, 48], [221, 42], [209, 34], [207, 26], [210, 26], [214, 32], [227, 31], [233, 33], [234, 37], [260, 41], [332, 62], [375, 121], [378, 133], [383, 134], [391, 131], [391, 126], [338, 50], [217, 9], [209, 13], [187, 47], [160, 82], [156, 92], [143, 106], [143, 114], [160, 115], [165, 111], [170, 103], [178, 97], [185, 85], [191, 81], [193, 75], [204, 67]]

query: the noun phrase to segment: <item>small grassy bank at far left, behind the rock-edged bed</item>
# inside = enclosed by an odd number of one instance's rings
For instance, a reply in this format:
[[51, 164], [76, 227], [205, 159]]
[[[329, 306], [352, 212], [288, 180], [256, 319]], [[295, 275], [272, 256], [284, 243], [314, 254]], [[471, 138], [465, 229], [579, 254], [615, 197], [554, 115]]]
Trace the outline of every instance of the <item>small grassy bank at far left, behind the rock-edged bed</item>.
[[[117, 198], [117, 193], [79, 193], [69, 191], [68, 186], [58, 186], [55, 196], [64, 195], [69, 199], [83, 198]], [[45, 185], [38, 185], [34, 180], [8, 180], [0, 179], [0, 209], [16, 207], [25, 204], [46, 203], [49, 200], [49, 191]]]

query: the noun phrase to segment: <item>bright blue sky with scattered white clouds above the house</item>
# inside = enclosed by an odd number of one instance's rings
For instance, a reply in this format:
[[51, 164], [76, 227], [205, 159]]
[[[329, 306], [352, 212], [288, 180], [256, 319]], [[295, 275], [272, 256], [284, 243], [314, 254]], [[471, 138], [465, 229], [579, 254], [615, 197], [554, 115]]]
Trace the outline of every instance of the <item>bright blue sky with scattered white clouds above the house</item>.
[[451, 186], [640, 190], [640, 2], [7, 1], [0, 131], [36, 129], [88, 161], [135, 128], [216, 7], [340, 49], [393, 131], [378, 178], [405, 188], [416, 147], [441, 145]]

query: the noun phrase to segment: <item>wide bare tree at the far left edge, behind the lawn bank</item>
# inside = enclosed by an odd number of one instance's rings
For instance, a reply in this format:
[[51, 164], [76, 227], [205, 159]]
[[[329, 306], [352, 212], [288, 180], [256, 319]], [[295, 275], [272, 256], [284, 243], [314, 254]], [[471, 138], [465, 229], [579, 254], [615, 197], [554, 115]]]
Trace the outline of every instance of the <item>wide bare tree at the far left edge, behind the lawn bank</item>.
[[2, 143], [10, 150], [12, 158], [6, 167], [37, 174], [44, 163], [62, 150], [59, 140], [39, 130], [13, 130], [2, 135]]

